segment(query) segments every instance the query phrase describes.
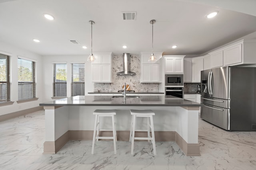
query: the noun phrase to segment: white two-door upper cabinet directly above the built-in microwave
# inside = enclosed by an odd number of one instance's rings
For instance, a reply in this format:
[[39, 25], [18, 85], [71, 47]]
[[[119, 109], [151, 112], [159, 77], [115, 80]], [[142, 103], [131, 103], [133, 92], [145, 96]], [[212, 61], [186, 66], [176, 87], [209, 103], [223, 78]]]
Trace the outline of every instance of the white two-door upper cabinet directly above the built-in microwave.
[[163, 57], [165, 74], [183, 74], [184, 55], [165, 55]]

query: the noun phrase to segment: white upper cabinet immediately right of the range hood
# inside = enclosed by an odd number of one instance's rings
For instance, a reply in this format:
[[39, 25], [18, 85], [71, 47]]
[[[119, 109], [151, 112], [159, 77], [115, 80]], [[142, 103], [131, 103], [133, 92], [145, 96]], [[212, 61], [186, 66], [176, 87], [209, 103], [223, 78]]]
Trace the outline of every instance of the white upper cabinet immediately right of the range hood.
[[[161, 82], [160, 61], [148, 62], [151, 53], [141, 53], [141, 83]], [[162, 58], [162, 53], [154, 53], [157, 59]]]

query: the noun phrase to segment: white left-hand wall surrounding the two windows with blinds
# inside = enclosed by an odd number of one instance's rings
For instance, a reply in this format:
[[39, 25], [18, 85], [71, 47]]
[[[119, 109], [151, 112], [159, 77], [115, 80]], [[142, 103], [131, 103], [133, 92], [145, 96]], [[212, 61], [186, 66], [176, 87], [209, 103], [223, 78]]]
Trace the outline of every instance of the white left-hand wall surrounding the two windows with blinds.
[[[11, 100], [14, 102], [12, 105], [0, 106], [0, 115], [29, 109], [39, 106], [43, 98], [43, 81], [42, 81], [42, 56], [32, 53], [30, 51], [13, 47], [6, 43], [0, 42], [0, 53], [4, 52], [11, 56]], [[18, 56], [26, 57], [36, 61], [36, 101], [25, 102], [18, 104]]]

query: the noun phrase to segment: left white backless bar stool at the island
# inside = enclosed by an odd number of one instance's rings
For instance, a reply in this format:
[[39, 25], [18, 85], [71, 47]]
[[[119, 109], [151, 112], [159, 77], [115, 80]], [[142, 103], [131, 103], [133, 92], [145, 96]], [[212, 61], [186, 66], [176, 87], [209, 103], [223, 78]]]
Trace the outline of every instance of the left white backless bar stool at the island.
[[[113, 139], [114, 141], [114, 154], [116, 154], [116, 126], [115, 126], [115, 119], [114, 115], [116, 115], [116, 110], [103, 110], [103, 109], [96, 109], [92, 113], [95, 115], [95, 123], [94, 123], [94, 131], [93, 131], [93, 139], [92, 139], [92, 154], [94, 154], [94, 144], [95, 140], [99, 139]], [[109, 129], [100, 129], [100, 117], [112, 117], [112, 131], [113, 137], [100, 137], [99, 131], [108, 131]], [[96, 135], [97, 131], [97, 135]]]

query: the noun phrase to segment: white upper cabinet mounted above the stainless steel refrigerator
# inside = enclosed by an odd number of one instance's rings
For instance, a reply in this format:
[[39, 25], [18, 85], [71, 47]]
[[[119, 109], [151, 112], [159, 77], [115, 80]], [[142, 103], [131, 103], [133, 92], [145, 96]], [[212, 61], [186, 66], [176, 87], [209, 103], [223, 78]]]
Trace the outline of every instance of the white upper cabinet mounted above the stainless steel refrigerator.
[[256, 64], [256, 43], [240, 40], [209, 53], [211, 68], [234, 66], [239, 64]]

